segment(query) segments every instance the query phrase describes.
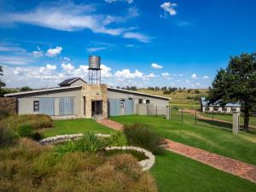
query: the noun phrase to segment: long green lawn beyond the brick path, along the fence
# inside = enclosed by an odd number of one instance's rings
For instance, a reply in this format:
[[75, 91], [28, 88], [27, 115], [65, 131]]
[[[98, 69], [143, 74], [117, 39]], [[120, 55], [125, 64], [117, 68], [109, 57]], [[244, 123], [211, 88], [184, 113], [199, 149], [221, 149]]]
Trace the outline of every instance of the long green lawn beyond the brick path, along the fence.
[[178, 119], [166, 120], [137, 115], [111, 117], [111, 119], [122, 124], [146, 123], [151, 125], [152, 131], [161, 137], [256, 165], [255, 133], [241, 131], [239, 135], [233, 135], [228, 129], [207, 127], [204, 125], [207, 124], [205, 122], [194, 125], [195, 117], [192, 115], [188, 115], [183, 123]]

